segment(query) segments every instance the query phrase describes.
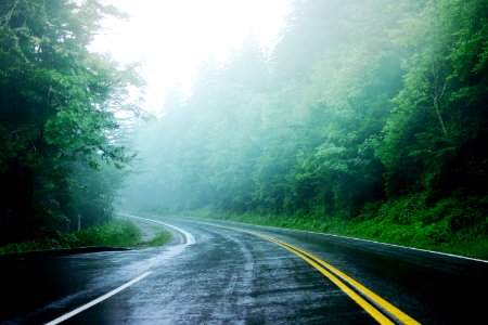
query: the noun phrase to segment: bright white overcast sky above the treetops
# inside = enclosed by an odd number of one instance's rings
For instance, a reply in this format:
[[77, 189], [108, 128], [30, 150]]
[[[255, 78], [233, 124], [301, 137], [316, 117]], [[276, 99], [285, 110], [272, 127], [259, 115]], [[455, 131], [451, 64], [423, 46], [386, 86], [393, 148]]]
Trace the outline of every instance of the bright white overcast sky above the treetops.
[[105, 20], [92, 42], [123, 64], [142, 63], [143, 108], [160, 113], [166, 91], [178, 82], [189, 90], [200, 64], [219, 62], [254, 32], [265, 51], [275, 43], [291, 0], [104, 0], [128, 13]]

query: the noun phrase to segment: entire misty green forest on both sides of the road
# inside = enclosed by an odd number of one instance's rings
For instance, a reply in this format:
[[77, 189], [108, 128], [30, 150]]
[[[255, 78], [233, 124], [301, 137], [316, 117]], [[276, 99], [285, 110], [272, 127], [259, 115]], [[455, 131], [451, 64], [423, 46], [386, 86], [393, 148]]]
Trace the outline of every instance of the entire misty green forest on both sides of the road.
[[487, 13], [487, 0], [295, 0], [272, 50], [249, 34], [227, 62], [208, 57], [147, 122], [133, 69], [87, 50], [121, 13], [2, 1], [0, 242], [104, 222], [118, 202], [486, 250]]

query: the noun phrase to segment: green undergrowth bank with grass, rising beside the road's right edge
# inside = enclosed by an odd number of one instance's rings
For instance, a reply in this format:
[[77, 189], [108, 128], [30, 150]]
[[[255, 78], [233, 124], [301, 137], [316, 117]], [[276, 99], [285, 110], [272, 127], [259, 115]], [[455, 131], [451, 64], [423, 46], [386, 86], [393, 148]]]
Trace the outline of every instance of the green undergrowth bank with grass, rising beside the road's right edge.
[[215, 211], [187, 216], [314, 231], [488, 260], [488, 199], [446, 198], [428, 204], [423, 194], [367, 205], [356, 218]]

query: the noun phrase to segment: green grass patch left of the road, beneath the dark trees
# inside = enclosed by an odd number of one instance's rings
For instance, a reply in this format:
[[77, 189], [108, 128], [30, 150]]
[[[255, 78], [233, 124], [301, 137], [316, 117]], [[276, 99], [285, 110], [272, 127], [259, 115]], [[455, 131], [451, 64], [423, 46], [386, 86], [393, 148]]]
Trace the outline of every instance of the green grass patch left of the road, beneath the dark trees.
[[54, 236], [11, 243], [0, 246], [0, 255], [36, 250], [66, 249], [78, 247], [146, 248], [163, 246], [171, 239], [171, 234], [163, 229], [147, 242], [142, 242], [141, 230], [129, 220], [113, 219], [105, 224], [74, 233], [57, 233]]

